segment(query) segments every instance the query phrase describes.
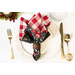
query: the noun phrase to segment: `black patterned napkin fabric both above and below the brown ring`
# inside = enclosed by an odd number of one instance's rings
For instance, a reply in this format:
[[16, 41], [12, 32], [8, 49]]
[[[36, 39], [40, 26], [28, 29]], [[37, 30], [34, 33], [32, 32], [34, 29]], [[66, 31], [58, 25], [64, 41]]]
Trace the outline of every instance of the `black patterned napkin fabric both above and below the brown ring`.
[[[35, 33], [32, 32], [32, 29], [30, 26], [27, 26], [27, 28], [24, 30], [25, 35], [22, 38], [22, 41], [27, 42], [27, 43], [42, 43], [43, 41], [45, 41], [49, 36], [50, 33], [46, 32], [46, 33], [40, 33], [40, 38], [35, 36]], [[37, 61], [40, 58], [40, 49], [34, 49], [33, 51], [33, 58]], [[36, 56], [35, 56], [36, 55]]]

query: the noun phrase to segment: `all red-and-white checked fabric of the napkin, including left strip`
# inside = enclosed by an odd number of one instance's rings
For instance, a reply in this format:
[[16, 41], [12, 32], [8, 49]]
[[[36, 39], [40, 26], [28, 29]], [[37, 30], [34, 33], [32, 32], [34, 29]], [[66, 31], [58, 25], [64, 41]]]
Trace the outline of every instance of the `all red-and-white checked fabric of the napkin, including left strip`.
[[[25, 25], [23, 24], [25, 23]], [[19, 28], [19, 39], [22, 40], [23, 36], [25, 35], [24, 30], [29, 25], [32, 30], [36, 31], [37, 33], [47, 32], [48, 26], [50, 25], [51, 21], [46, 16], [42, 17], [40, 13], [34, 14], [33, 17], [28, 21], [21, 17], [20, 19], [20, 28]]]

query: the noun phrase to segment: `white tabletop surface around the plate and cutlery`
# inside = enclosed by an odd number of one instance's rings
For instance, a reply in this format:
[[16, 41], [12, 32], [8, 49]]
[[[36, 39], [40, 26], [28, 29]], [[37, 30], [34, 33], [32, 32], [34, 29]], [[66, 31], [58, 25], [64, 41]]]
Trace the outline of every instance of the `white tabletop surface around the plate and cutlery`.
[[[29, 13], [22, 13], [22, 14], [29, 14]], [[34, 14], [34, 13], [32, 13]], [[15, 55], [15, 59], [10, 59], [10, 44], [7, 37], [7, 29], [11, 28], [13, 36], [16, 36], [16, 33], [19, 31], [19, 25], [20, 25], [20, 17], [23, 15], [20, 15], [19, 18], [13, 23], [10, 21], [0, 20], [0, 63], [20, 63], [20, 62], [28, 62], [26, 58], [17, 50], [17, 47], [15, 45], [15, 40], [13, 37], [12, 39], [12, 45], [13, 45], [13, 51]], [[32, 15], [31, 15], [32, 16]], [[27, 16], [30, 18], [30, 16]], [[55, 22], [53, 21], [57, 27], [59, 28], [61, 22]], [[71, 35], [71, 41], [69, 42], [69, 49], [70, 52], [73, 54], [73, 60], [71, 62], [75, 62], [75, 13], [68, 13], [67, 17], [62, 21], [63, 22], [63, 29], [64, 29], [64, 35], [69, 33]], [[54, 46], [57, 46], [55, 43]], [[64, 42], [64, 50], [66, 51], [66, 43]], [[31, 61], [35, 62], [35, 61]], [[39, 62], [39, 61], [38, 61]], [[61, 53], [59, 50], [59, 53], [56, 57], [53, 59], [50, 59], [48, 61], [43, 62], [53, 62], [53, 63], [59, 63], [59, 62], [67, 62], [66, 60], [61, 59]]]

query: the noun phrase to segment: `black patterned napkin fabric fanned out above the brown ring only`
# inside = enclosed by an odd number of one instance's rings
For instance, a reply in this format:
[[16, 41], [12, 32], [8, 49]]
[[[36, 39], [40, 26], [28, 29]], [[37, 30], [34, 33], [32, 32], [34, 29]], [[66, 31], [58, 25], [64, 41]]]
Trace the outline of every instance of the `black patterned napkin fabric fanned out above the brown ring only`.
[[[50, 33], [47, 32], [47, 33], [41, 33], [40, 34], [41, 37], [38, 38], [35, 36], [35, 33], [32, 32], [32, 29], [30, 26], [27, 26], [27, 29], [25, 29], [24, 32], [26, 33], [26, 35], [23, 36], [22, 41], [28, 42], [28, 43], [42, 43], [50, 36]], [[30, 33], [32, 34], [32, 36], [30, 35]]]

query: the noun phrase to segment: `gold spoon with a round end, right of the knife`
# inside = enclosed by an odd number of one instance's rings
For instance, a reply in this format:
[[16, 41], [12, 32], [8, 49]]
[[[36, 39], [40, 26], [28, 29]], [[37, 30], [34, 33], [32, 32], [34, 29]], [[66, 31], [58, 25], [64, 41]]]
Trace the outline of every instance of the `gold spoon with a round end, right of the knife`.
[[68, 48], [68, 42], [70, 42], [70, 35], [66, 34], [64, 41], [67, 43], [67, 55], [65, 55], [65, 59], [68, 61], [71, 61], [73, 59], [73, 56], [71, 53], [69, 53], [69, 48]]

